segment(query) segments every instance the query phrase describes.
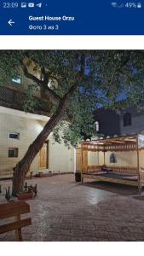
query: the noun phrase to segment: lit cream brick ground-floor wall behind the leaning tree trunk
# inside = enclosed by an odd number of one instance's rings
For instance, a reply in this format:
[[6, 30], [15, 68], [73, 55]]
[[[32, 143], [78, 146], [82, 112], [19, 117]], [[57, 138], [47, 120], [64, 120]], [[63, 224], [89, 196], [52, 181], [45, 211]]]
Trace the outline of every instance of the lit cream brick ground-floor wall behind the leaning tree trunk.
[[[9, 114], [8, 108], [6, 113], [0, 109], [0, 175], [13, 170], [16, 163], [26, 153], [27, 148], [34, 141], [40, 131], [43, 129], [45, 121], [34, 119], [34, 115], [26, 115], [19, 111], [13, 110]], [[10, 112], [10, 110], [9, 110]], [[19, 113], [19, 115], [14, 115]], [[20, 116], [21, 113], [21, 116]], [[25, 117], [23, 117], [25, 115]], [[32, 117], [32, 118], [31, 118]], [[20, 139], [9, 139], [9, 132], [20, 133]], [[54, 143], [52, 135], [49, 140], [49, 169], [43, 172], [74, 172], [74, 149], [68, 149], [64, 144]], [[19, 148], [18, 157], [9, 158], [8, 149]], [[38, 170], [38, 155], [32, 162], [31, 170], [35, 173]]]

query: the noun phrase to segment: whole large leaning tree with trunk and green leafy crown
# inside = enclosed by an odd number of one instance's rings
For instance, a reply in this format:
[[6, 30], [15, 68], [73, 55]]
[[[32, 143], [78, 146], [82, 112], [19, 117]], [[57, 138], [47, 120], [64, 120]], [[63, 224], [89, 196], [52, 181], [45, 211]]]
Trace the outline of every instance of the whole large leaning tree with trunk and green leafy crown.
[[[51, 131], [55, 141], [76, 146], [83, 133], [94, 134], [96, 108], [122, 108], [131, 103], [142, 108], [142, 50], [1, 50], [1, 84], [20, 70], [32, 80], [24, 110], [34, 112], [37, 103], [47, 102], [50, 119], [14, 166], [13, 195], [23, 188], [32, 160]], [[39, 102], [33, 97], [35, 90], [40, 93]]]

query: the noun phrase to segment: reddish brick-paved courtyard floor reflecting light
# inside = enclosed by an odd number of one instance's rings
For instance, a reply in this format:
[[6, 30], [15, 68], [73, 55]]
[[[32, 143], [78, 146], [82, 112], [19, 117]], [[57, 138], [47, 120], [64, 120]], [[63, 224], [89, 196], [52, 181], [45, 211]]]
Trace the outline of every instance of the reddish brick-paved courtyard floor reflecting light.
[[[27, 183], [37, 183], [39, 193], [27, 201], [32, 225], [22, 229], [24, 241], [144, 241], [144, 195], [135, 188], [91, 180], [82, 185], [71, 174]], [[0, 235], [0, 241], [15, 241], [14, 232]]]

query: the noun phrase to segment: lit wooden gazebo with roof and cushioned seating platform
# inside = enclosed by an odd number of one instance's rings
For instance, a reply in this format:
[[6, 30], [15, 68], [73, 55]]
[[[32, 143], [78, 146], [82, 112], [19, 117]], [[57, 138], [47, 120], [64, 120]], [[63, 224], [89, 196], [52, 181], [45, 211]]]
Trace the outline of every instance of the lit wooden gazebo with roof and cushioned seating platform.
[[141, 187], [144, 186], [144, 136], [83, 142], [80, 154], [82, 182], [84, 178], [92, 178], [96, 181], [123, 183], [137, 186], [141, 194]]

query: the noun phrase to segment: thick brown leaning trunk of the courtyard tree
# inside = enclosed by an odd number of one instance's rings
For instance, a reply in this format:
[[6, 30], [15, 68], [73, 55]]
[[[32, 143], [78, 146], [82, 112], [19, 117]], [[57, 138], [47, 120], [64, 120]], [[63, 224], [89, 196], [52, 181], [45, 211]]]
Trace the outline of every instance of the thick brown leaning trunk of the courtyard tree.
[[68, 96], [71, 96], [71, 94], [72, 92], [70, 93], [70, 91], [66, 94], [63, 100], [60, 102], [56, 112], [44, 126], [43, 131], [40, 132], [35, 141], [30, 145], [23, 159], [20, 160], [20, 162], [14, 167], [12, 195], [17, 195], [23, 189], [26, 173], [30, 169], [32, 160], [43, 147], [43, 143], [45, 143], [47, 137], [49, 137], [50, 132], [53, 131], [55, 125], [58, 124], [65, 113]]

